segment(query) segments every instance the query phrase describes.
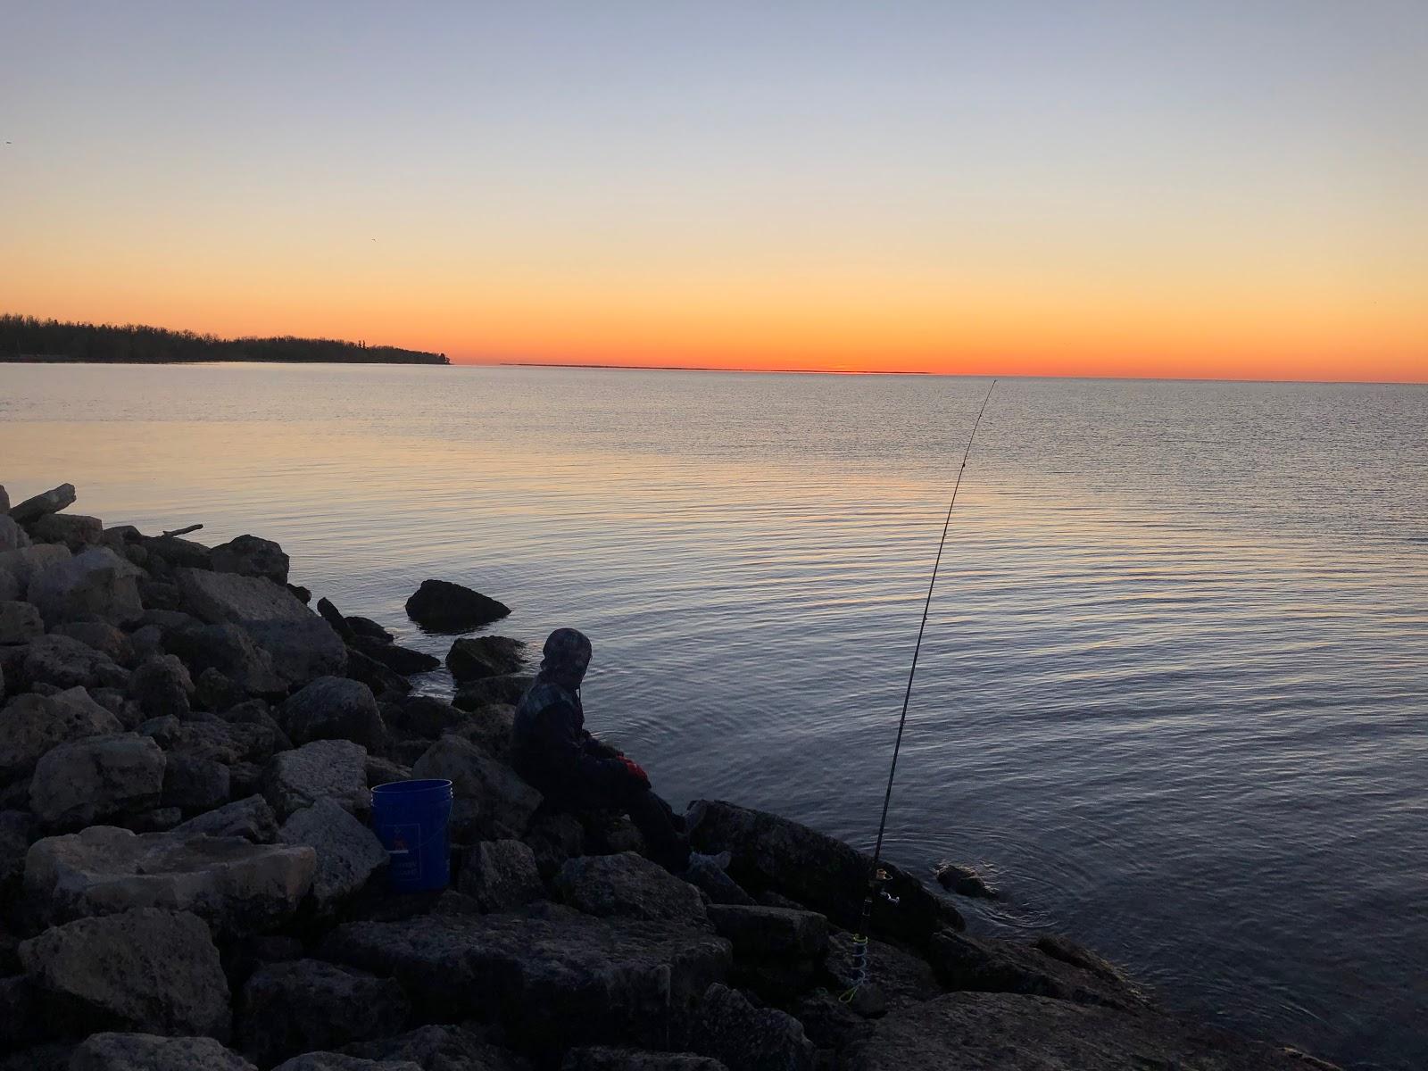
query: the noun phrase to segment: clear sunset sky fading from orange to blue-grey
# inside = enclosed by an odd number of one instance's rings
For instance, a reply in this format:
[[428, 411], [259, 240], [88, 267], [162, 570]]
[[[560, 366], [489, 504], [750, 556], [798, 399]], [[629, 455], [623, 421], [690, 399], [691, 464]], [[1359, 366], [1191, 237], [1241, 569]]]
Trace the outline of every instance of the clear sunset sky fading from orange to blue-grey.
[[0, 311], [1428, 381], [1428, 3], [0, 0]]

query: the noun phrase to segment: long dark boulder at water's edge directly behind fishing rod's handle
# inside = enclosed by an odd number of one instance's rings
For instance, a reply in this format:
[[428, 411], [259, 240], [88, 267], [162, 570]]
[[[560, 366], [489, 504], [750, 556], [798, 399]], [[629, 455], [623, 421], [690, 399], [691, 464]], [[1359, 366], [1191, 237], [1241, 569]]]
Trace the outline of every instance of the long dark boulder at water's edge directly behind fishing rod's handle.
[[[728, 873], [747, 890], [790, 897], [845, 928], [857, 928], [873, 874], [871, 857], [788, 818], [723, 801], [700, 801], [691, 840], [703, 853], [728, 851]], [[945, 927], [962, 928], [957, 910], [890, 863], [873, 908], [873, 930], [914, 942]]]

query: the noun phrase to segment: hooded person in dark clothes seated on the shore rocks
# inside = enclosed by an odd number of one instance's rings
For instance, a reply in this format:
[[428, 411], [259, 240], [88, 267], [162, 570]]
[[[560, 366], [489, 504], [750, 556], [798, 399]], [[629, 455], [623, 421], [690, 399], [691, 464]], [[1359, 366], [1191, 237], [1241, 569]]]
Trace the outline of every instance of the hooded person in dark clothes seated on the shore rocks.
[[574, 628], [557, 628], [545, 640], [540, 673], [516, 707], [511, 765], [558, 810], [628, 814], [651, 858], [683, 874], [690, 865], [684, 820], [650, 791], [634, 760], [585, 731], [580, 683], [590, 654], [590, 640]]

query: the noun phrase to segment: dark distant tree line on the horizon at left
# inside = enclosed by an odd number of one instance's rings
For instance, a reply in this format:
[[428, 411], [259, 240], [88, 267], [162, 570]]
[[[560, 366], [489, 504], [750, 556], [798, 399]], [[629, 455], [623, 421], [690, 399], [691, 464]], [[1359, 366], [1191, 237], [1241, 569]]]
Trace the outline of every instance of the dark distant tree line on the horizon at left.
[[444, 353], [367, 346], [337, 338], [220, 338], [141, 324], [73, 324], [0, 314], [0, 361], [297, 361], [357, 364], [450, 364]]

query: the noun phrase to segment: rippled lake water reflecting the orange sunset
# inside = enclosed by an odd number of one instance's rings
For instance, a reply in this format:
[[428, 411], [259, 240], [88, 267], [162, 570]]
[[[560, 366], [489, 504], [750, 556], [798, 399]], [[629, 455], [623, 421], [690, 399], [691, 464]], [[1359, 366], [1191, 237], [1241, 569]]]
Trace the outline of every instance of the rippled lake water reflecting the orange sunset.
[[[877, 831], [984, 380], [0, 364], [0, 481], [218, 543], [444, 654], [426, 577], [594, 640], [683, 804]], [[450, 688], [441, 674], [424, 687]], [[1172, 1007], [1428, 1065], [1428, 388], [1005, 380], [952, 518], [890, 855], [975, 864]]]

